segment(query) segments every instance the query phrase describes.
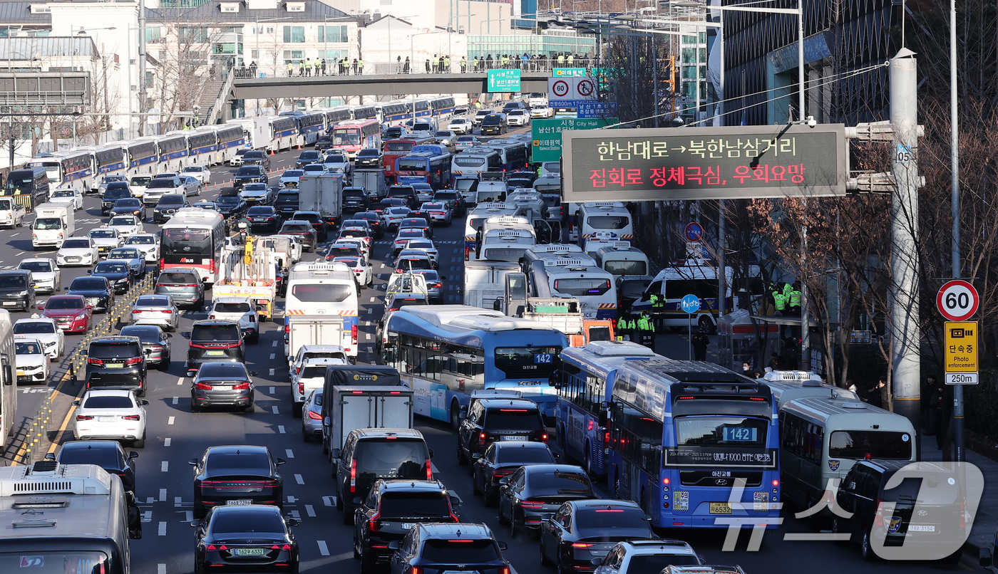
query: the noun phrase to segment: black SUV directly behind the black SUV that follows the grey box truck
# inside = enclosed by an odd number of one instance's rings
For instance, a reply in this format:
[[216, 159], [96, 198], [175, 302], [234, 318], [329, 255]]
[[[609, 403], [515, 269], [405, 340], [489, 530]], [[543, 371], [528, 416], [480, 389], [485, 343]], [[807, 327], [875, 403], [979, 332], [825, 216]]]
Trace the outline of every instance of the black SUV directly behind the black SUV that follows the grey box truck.
[[392, 541], [401, 541], [414, 524], [459, 522], [450, 496], [439, 480], [378, 480], [353, 514], [353, 554], [360, 556], [361, 574], [387, 564]]

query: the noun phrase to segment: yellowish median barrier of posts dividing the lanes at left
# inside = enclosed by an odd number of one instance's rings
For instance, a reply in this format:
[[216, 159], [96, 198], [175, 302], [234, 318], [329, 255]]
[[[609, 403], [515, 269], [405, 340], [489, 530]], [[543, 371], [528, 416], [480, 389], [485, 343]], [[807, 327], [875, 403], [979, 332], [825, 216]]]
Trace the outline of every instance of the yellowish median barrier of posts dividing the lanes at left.
[[[135, 300], [140, 295], [149, 293], [154, 285], [156, 285], [156, 274], [153, 271], [148, 271], [142, 281], [133, 285], [123, 297], [115, 301], [115, 304], [104, 315], [101, 321], [87, 331], [83, 339], [79, 341], [76, 349], [63, 360], [61, 366], [65, 366], [66, 371], [63, 372], [62, 378], [59, 380], [56, 388], [42, 402], [38, 413], [35, 414], [31, 425], [28, 426], [24, 440], [14, 455], [12, 464], [30, 465], [36, 460], [41, 460], [45, 457], [45, 454], [51, 449], [50, 445], [58, 440], [58, 436], [49, 437], [49, 432], [53, 430], [53, 413], [55, 409], [53, 403], [61, 395], [79, 397], [80, 392], [83, 391], [84, 387], [77, 385], [77, 373], [86, 371], [87, 351], [90, 348], [90, 342], [96, 337], [112, 335], [114, 329], [121, 323], [122, 318], [127, 313], [130, 313]], [[67, 383], [72, 385], [72, 392], [64, 391]], [[63, 426], [68, 424], [74, 409], [75, 407], [70, 404], [65, 418], [58, 422], [59, 426], [55, 430], [62, 430]]]

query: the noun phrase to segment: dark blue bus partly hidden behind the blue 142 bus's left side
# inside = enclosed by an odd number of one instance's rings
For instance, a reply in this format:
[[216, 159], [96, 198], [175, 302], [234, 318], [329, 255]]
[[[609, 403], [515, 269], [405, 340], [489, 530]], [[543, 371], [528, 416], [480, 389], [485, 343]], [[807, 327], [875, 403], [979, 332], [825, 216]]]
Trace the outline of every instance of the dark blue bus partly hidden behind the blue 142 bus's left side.
[[628, 361], [664, 357], [630, 341], [594, 341], [565, 349], [561, 358], [561, 368], [555, 373], [558, 445], [591, 476], [605, 477], [610, 447], [607, 406], [617, 370]]

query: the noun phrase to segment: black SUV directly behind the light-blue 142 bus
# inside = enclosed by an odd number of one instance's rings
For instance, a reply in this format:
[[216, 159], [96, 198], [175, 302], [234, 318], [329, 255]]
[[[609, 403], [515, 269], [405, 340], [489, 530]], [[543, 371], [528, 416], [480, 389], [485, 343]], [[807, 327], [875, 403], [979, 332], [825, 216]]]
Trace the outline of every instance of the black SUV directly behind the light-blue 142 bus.
[[457, 430], [457, 461], [467, 464], [497, 440], [547, 442], [548, 430], [537, 403], [526, 399], [486, 399], [471, 406]]

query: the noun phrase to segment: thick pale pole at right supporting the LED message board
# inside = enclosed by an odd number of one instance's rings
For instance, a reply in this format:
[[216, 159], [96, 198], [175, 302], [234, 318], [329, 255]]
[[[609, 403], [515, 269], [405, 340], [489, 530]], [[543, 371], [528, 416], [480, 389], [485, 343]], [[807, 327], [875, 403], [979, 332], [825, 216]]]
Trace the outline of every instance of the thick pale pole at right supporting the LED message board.
[[[894, 412], [921, 429], [918, 332], [918, 62], [906, 48], [890, 60], [890, 123], [897, 152], [891, 159], [890, 351]], [[911, 153], [901, 153], [910, 149]], [[958, 273], [957, 269], [954, 269]], [[959, 388], [959, 386], [957, 386]], [[955, 421], [954, 421], [955, 423]]]

